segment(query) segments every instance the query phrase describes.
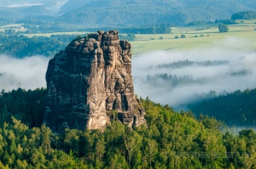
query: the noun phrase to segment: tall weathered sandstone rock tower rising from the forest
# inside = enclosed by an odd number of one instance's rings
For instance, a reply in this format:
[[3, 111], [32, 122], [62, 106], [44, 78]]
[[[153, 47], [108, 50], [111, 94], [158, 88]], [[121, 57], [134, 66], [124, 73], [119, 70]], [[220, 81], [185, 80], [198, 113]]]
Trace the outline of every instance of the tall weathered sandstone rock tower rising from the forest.
[[119, 41], [118, 31], [74, 39], [49, 60], [46, 82], [44, 123], [54, 132], [102, 129], [113, 117], [130, 127], [145, 122], [133, 89], [131, 44]]

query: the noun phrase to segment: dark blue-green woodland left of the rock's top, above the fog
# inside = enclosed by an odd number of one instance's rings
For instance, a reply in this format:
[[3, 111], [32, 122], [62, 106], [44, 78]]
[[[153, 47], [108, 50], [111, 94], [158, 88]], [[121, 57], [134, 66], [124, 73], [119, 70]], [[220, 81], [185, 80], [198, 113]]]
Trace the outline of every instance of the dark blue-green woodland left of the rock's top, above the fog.
[[74, 35], [52, 35], [51, 37], [2, 36], [0, 54], [17, 58], [33, 55], [53, 56], [74, 38]]

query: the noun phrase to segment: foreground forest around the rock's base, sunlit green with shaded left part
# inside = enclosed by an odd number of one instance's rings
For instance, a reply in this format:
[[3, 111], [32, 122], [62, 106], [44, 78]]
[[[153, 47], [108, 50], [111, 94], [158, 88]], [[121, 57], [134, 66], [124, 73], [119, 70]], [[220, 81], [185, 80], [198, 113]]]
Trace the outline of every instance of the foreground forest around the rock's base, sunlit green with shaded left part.
[[213, 117], [196, 119], [191, 111], [140, 98], [147, 125], [131, 129], [112, 121], [104, 131], [55, 134], [42, 124], [45, 95], [45, 88], [2, 91], [1, 168], [256, 167], [253, 129], [232, 134]]

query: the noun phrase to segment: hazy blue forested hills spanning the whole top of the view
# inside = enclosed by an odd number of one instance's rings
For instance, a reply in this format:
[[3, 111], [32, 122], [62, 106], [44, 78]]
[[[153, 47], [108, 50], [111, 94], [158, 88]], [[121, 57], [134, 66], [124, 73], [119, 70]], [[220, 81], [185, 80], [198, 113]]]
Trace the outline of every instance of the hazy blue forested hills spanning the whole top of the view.
[[253, 0], [148, 0], [147, 2], [69, 0], [64, 3], [65, 1], [55, 0], [31, 2], [28, 6], [22, 6], [21, 2], [0, 2], [0, 21], [4, 20], [6, 25], [19, 20], [55, 20], [72, 25], [83, 25], [86, 28], [131, 27], [161, 23], [187, 25], [193, 21], [227, 20], [232, 14], [256, 10], [256, 2]]

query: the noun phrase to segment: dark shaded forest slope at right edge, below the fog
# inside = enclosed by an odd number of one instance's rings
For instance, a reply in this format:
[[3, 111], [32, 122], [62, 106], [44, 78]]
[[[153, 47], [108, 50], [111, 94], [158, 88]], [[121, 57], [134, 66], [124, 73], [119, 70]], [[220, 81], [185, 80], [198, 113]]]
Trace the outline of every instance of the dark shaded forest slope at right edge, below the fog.
[[230, 126], [252, 127], [256, 124], [256, 89], [220, 95], [189, 105], [195, 115], [215, 116]]

